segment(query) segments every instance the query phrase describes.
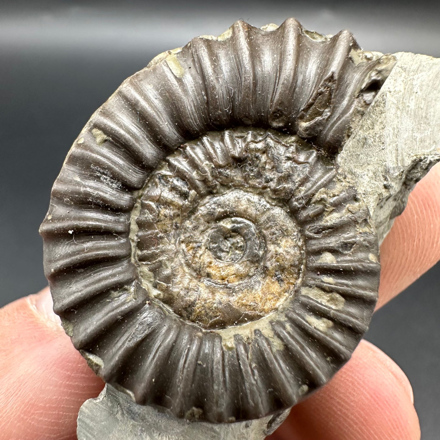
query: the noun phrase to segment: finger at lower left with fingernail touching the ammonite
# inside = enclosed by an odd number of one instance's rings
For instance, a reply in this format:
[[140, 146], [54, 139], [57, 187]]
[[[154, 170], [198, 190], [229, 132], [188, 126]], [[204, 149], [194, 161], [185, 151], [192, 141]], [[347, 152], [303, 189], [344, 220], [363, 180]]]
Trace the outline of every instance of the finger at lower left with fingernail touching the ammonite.
[[2, 439], [76, 439], [81, 404], [103, 388], [51, 308], [46, 288], [0, 309]]

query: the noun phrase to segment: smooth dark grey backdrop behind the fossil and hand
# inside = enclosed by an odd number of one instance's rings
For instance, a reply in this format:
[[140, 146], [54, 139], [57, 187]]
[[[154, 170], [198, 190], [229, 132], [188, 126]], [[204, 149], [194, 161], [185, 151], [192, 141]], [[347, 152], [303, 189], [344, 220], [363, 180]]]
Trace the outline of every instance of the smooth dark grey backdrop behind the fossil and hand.
[[[239, 18], [262, 26], [294, 16], [320, 33], [350, 29], [368, 50], [440, 57], [436, 2], [121, 3], [1, 1], [0, 306], [46, 285], [38, 227], [70, 144], [158, 53]], [[410, 378], [426, 440], [440, 432], [439, 275], [437, 264], [381, 309], [367, 334]]]

